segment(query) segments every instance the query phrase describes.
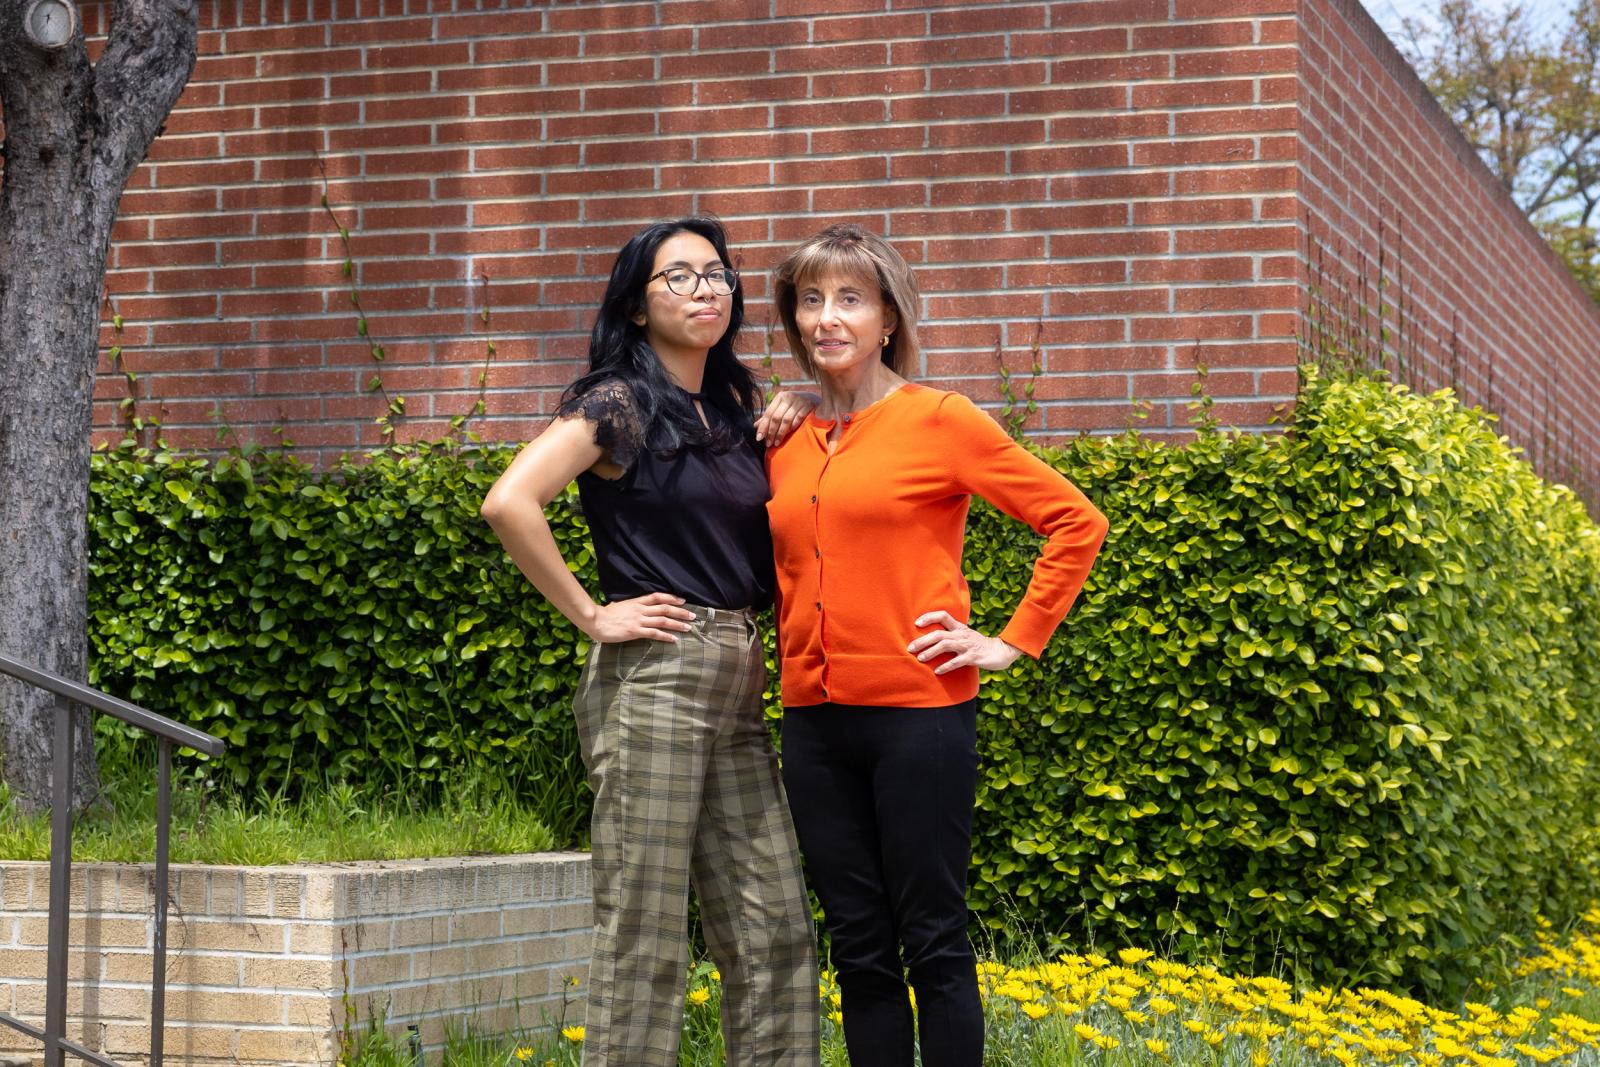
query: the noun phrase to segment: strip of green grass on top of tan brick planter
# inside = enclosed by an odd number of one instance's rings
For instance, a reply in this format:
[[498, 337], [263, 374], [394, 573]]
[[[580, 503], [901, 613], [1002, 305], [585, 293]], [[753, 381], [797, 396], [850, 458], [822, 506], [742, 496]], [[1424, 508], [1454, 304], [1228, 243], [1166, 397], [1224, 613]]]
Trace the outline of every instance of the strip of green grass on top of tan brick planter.
[[[75, 862], [155, 859], [155, 774], [107, 774], [75, 824]], [[432, 798], [330, 784], [302, 797], [174, 782], [173, 862], [304, 864], [539, 853], [555, 835], [510, 789], [464, 776]], [[50, 816], [22, 814], [0, 785], [0, 859], [48, 859]]]

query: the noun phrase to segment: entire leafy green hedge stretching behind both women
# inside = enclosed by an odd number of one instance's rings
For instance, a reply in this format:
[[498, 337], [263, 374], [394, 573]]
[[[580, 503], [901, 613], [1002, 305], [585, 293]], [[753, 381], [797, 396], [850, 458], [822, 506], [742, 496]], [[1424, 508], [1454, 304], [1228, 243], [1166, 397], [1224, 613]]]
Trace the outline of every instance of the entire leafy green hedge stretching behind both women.
[[[94, 681], [226, 737], [245, 785], [477, 761], [576, 833], [582, 645], [477, 517], [506, 458], [98, 456]], [[1600, 537], [1482, 416], [1310, 374], [1283, 435], [1048, 458], [1112, 533], [1043, 661], [982, 689], [984, 921], [1453, 989], [1589, 901]], [[552, 526], [594, 587], [571, 496]], [[976, 625], [1035, 549], [974, 507]]]

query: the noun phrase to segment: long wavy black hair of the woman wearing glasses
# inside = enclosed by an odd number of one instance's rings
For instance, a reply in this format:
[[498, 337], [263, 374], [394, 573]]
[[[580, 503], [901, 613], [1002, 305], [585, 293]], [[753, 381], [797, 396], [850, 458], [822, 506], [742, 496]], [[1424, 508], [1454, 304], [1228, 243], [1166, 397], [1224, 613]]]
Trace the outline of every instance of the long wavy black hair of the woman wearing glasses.
[[685, 446], [709, 446], [726, 451], [750, 434], [755, 414], [755, 376], [734, 355], [733, 346], [744, 325], [744, 290], [734, 286], [728, 330], [706, 357], [701, 398], [730, 416], [712, 419], [707, 427], [694, 411], [694, 403], [667, 374], [645, 338], [645, 328], [634, 317], [645, 306], [645, 288], [656, 266], [656, 250], [674, 234], [699, 234], [728, 267], [728, 237], [722, 222], [696, 216], [648, 226], [622, 245], [611, 264], [611, 280], [600, 301], [600, 314], [589, 334], [589, 371], [562, 394], [563, 406], [578, 400], [600, 382], [621, 379], [634, 394], [643, 446], [658, 454], [672, 454]]

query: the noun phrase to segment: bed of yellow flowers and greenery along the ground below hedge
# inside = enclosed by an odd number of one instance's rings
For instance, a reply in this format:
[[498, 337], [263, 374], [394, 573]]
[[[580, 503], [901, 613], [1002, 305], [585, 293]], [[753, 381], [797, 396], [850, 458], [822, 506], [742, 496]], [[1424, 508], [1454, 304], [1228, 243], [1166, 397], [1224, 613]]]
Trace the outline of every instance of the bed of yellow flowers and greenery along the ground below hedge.
[[[710, 965], [690, 976], [680, 1067], [723, 1064], [720, 987]], [[1480, 1000], [1438, 1009], [1384, 990], [1294, 989], [1229, 976], [1142, 949], [1115, 955], [979, 965], [992, 1067], [1530, 1067], [1600, 1065], [1600, 909], [1539, 950]], [[838, 989], [819, 989], [822, 1065], [848, 1067]], [[581, 1014], [494, 1040], [458, 1027], [430, 1067], [576, 1067]], [[414, 1067], [403, 1038], [368, 1025], [341, 1064]]]

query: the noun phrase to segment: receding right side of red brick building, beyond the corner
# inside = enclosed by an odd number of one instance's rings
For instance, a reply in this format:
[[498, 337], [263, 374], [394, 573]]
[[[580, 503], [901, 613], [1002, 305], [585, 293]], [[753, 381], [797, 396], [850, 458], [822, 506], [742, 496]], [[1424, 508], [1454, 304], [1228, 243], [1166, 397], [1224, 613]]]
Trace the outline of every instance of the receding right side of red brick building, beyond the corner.
[[1299, 195], [1322, 254], [1365, 275], [1376, 309], [1382, 243], [1411, 381], [1494, 411], [1546, 477], [1600, 499], [1594, 301], [1355, 0], [1304, 3], [1299, 54]]

